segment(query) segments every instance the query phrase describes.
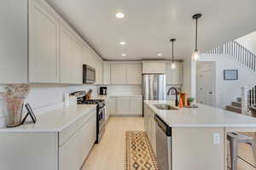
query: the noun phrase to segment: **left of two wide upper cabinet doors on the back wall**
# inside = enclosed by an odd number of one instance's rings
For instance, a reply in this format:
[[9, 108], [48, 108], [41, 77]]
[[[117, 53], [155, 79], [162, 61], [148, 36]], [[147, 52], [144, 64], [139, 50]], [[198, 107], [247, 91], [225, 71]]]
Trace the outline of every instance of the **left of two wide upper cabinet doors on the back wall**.
[[111, 65], [111, 83], [112, 84], [126, 83], [126, 65], [125, 64]]

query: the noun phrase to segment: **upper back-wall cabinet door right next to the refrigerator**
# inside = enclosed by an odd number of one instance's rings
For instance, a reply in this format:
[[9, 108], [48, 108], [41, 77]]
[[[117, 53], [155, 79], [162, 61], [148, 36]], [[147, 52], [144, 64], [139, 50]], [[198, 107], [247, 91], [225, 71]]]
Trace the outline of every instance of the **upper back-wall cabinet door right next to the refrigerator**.
[[141, 84], [142, 83], [142, 65], [127, 64], [127, 83], [128, 84]]

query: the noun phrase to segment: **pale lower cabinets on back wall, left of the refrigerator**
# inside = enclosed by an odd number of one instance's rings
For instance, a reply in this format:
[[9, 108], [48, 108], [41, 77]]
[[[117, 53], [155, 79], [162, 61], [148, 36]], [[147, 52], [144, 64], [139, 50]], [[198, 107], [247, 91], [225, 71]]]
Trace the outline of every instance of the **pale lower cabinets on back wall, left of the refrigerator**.
[[143, 116], [143, 96], [111, 96], [109, 100], [112, 116]]

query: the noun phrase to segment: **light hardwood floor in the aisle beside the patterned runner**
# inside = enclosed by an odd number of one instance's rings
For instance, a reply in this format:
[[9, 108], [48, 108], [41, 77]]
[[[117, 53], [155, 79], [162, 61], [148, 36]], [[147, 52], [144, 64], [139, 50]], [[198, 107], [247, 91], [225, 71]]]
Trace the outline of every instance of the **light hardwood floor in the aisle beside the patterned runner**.
[[143, 117], [110, 117], [101, 143], [94, 145], [82, 170], [123, 170], [129, 130], [144, 130]]

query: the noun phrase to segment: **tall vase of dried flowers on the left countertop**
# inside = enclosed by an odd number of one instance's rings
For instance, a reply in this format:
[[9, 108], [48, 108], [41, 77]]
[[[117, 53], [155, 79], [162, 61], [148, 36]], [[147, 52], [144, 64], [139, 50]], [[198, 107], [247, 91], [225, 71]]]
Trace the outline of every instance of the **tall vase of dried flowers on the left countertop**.
[[20, 126], [24, 100], [28, 93], [28, 84], [12, 84], [6, 87], [3, 100], [5, 103], [7, 127]]

